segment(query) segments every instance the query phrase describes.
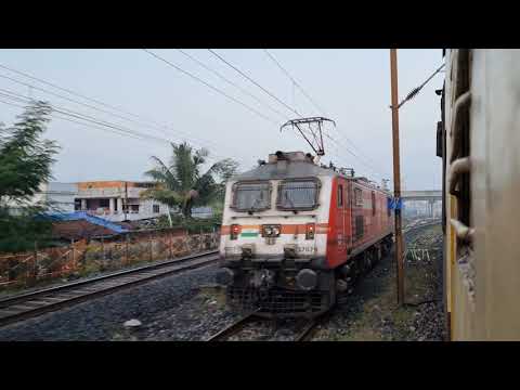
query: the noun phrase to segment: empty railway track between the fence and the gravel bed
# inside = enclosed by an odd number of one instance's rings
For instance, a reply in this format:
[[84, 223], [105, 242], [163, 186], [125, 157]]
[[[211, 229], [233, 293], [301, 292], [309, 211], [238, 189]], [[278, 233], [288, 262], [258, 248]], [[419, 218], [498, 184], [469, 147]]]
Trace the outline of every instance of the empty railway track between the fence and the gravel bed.
[[217, 250], [44, 288], [0, 300], [0, 326], [218, 261]]

